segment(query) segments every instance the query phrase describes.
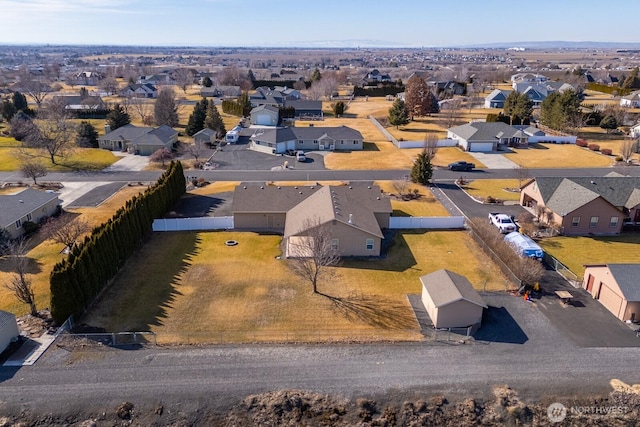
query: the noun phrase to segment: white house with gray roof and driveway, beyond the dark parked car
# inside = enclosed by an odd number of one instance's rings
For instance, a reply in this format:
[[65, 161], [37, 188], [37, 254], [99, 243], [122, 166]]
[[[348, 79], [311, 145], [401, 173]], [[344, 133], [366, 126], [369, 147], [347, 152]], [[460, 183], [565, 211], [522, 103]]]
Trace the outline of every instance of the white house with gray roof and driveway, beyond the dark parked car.
[[465, 151], [490, 152], [501, 145], [526, 145], [529, 135], [502, 122], [471, 122], [447, 129], [447, 138], [457, 140]]

